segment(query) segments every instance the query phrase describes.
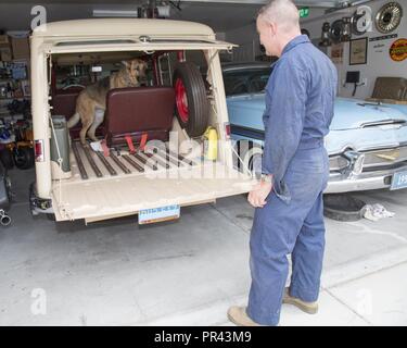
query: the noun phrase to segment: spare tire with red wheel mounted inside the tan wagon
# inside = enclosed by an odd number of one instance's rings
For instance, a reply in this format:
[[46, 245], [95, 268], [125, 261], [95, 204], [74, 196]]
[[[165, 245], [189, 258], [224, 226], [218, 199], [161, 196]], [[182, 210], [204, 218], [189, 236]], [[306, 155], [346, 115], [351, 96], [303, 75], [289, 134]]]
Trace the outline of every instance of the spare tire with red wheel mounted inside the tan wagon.
[[179, 124], [190, 137], [199, 137], [205, 133], [209, 119], [209, 103], [200, 70], [191, 62], [178, 63], [173, 82]]

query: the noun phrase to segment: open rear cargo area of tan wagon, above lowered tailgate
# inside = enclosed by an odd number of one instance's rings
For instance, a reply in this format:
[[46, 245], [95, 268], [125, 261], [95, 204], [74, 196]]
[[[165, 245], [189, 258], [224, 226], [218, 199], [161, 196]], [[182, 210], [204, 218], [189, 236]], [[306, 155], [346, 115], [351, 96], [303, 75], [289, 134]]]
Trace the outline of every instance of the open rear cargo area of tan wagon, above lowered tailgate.
[[[71, 147], [62, 151], [69, 153], [66, 173], [56, 167], [54, 149], [53, 179], [73, 182], [182, 170], [205, 159], [224, 162], [222, 146], [217, 140], [225, 136], [227, 123], [217, 115], [208, 59], [204, 51], [54, 54], [49, 72], [51, 114], [54, 126], [69, 126]], [[135, 60], [145, 63], [142, 77], [141, 66], [131, 66]], [[111, 76], [126, 83], [129, 74], [135, 74], [138, 85], [110, 88]], [[93, 123], [100, 120], [93, 137], [103, 142], [103, 149], [102, 145], [89, 147], [96, 140], [90, 138], [92, 126], [84, 147], [80, 132], [86, 119], [78, 116], [80, 112]], [[158, 146], [136, 153], [149, 141]]]

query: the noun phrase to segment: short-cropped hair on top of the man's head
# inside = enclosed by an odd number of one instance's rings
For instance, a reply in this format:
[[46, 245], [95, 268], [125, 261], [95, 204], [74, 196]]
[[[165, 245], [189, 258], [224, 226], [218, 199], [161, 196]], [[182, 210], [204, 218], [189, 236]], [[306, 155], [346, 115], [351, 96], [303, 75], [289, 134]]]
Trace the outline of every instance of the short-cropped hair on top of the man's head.
[[258, 17], [284, 30], [300, 29], [298, 9], [291, 0], [271, 0], [258, 11]]

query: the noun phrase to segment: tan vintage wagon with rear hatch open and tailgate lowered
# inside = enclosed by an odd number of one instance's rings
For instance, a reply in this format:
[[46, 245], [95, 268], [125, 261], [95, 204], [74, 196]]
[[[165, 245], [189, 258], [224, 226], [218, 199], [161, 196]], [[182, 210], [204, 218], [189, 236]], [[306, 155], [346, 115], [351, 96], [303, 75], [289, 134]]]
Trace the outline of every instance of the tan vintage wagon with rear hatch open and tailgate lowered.
[[[34, 214], [86, 223], [139, 215], [139, 223], [179, 216], [180, 207], [247, 192], [238, 172], [218, 41], [202, 24], [167, 20], [48, 23], [31, 37], [36, 183]], [[100, 141], [67, 128], [78, 95], [122, 61], [148, 64], [143, 85], [111, 89]], [[204, 76], [204, 77], [203, 77]]]

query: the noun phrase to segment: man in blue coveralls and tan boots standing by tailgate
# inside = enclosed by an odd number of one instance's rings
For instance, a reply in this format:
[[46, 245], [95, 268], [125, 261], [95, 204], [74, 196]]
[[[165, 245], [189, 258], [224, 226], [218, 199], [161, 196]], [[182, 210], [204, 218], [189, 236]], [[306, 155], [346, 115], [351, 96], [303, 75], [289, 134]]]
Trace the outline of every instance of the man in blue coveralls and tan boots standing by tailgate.
[[[333, 116], [338, 74], [329, 58], [301, 35], [291, 0], [271, 0], [257, 16], [268, 55], [279, 57], [266, 87], [260, 183], [251, 233], [247, 307], [231, 307], [238, 325], [278, 325], [282, 303], [316, 313], [325, 249], [322, 191], [329, 175], [323, 137]], [[289, 261], [292, 276], [285, 287]]]

